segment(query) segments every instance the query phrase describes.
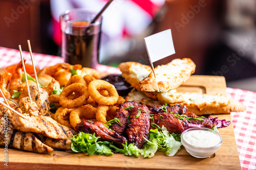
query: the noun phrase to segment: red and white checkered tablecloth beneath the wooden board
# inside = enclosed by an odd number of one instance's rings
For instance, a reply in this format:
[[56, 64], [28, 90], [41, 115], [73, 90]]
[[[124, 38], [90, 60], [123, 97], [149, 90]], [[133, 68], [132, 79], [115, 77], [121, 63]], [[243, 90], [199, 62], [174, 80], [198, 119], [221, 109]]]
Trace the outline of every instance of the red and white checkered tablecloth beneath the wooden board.
[[[24, 59], [31, 63], [28, 52], [23, 52]], [[61, 57], [33, 53], [36, 66], [43, 68], [63, 62]], [[0, 47], [0, 68], [16, 64], [20, 61], [19, 51]], [[98, 65], [101, 72], [120, 73], [115, 67]], [[242, 169], [256, 169], [256, 92], [227, 88], [227, 96], [246, 106], [245, 112], [231, 113], [234, 134]]]

